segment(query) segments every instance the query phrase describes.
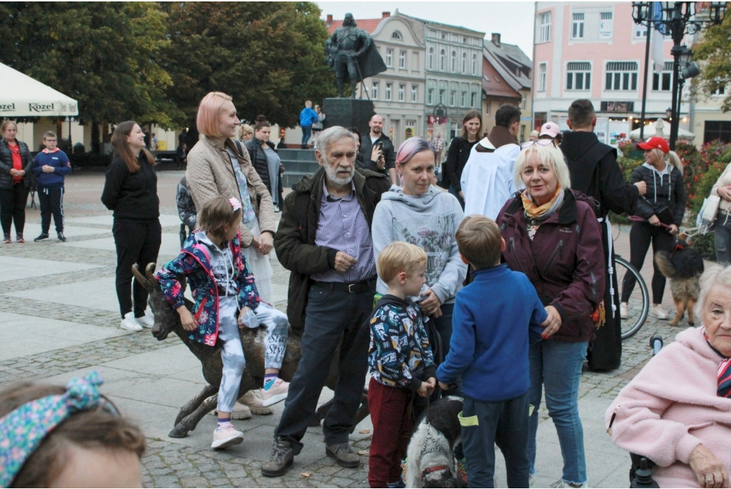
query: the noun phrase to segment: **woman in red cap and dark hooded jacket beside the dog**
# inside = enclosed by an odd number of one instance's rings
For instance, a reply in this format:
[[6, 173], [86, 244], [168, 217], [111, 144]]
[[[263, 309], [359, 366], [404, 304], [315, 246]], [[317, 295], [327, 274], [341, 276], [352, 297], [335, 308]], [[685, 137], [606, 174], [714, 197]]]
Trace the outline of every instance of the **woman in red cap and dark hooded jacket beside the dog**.
[[[675, 235], [683, 222], [686, 198], [683, 186], [683, 164], [675, 151], [670, 151], [662, 137], [651, 137], [638, 147], [645, 150], [645, 163], [635, 168], [630, 183], [644, 181], [647, 193], [637, 202], [637, 214], [646, 221], [635, 221], [629, 232], [629, 262], [641, 270], [645, 255], [652, 243], [653, 255], [658, 251], [673, 251]], [[660, 273], [653, 260], [652, 314], [658, 319], [667, 319], [667, 312], [660, 304], [665, 290], [665, 276]], [[627, 316], [627, 302], [635, 287], [631, 273], [624, 276], [620, 304], [621, 317]]]

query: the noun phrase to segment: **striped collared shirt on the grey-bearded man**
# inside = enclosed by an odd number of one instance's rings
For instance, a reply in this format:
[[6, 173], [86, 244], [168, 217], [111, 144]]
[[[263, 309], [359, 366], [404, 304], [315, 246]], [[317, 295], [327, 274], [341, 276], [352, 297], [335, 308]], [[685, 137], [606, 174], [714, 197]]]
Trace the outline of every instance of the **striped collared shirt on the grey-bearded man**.
[[354, 284], [376, 275], [371, 229], [355, 195], [355, 183], [351, 185], [350, 194], [338, 199], [327, 193], [327, 186], [322, 182], [315, 244], [347, 253], [355, 258], [355, 264], [345, 273], [337, 270], [316, 273], [310, 276], [314, 281]]

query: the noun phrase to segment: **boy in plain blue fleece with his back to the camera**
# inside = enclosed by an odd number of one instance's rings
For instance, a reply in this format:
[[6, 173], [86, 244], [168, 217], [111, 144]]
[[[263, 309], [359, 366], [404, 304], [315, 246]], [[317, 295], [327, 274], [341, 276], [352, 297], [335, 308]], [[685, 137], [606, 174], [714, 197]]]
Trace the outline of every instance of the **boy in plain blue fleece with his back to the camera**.
[[523, 273], [500, 265], [505, 241], [492, 219], [467, 216], [457, 228], [463, 262], [474, 281], [457, 292], [452, 344], [436, 378], [442, 389], [462, 378], [460, 417], [471, 488], [492, 488], [497, 444], [509, 488], [529, 487], [528, 345], [540, 340], [548, 317]]

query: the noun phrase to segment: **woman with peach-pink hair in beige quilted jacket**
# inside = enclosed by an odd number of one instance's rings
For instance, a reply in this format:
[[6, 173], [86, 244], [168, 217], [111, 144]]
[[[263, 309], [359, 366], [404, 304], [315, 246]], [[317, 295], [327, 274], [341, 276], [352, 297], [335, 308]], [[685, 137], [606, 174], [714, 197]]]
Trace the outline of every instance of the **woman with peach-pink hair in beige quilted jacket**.
[[[195, 208], [201, 209], [205, 202], [219, 195], [241, 201], [241, 252], [257, 278], [261, 300], [271, 304], [271, 277], [274, 272], [269, 263], [269, 253], [273, 249], [276, 232], [274, 204], [267, 187], [251, 165], [249, 151], [239, 151], [232, 140], [240, 121], [231, 96], [219, 91], [204, 96], [198, 106], [196, 125], [202, 137], [188, 153], [186, 169]], [[262, 408], [260, 399], [251, 393], [246, 393], [242, 400], [254, 409], [255, 414], [273, 412], [270, 408]], [[233, 415], [243, 419], [250, 416], [246, 411], [248, 409], [237, 403]]]

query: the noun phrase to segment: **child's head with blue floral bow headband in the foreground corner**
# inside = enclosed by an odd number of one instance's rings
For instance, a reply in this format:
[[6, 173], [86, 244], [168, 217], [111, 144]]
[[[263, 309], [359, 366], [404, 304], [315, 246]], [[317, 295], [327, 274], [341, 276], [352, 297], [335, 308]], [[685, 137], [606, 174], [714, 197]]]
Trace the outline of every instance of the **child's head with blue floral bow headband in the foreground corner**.
[[145, 437], [99, 394], [96, 372], [66, 387], [0, 391], [1, 488], [141, 488]]

